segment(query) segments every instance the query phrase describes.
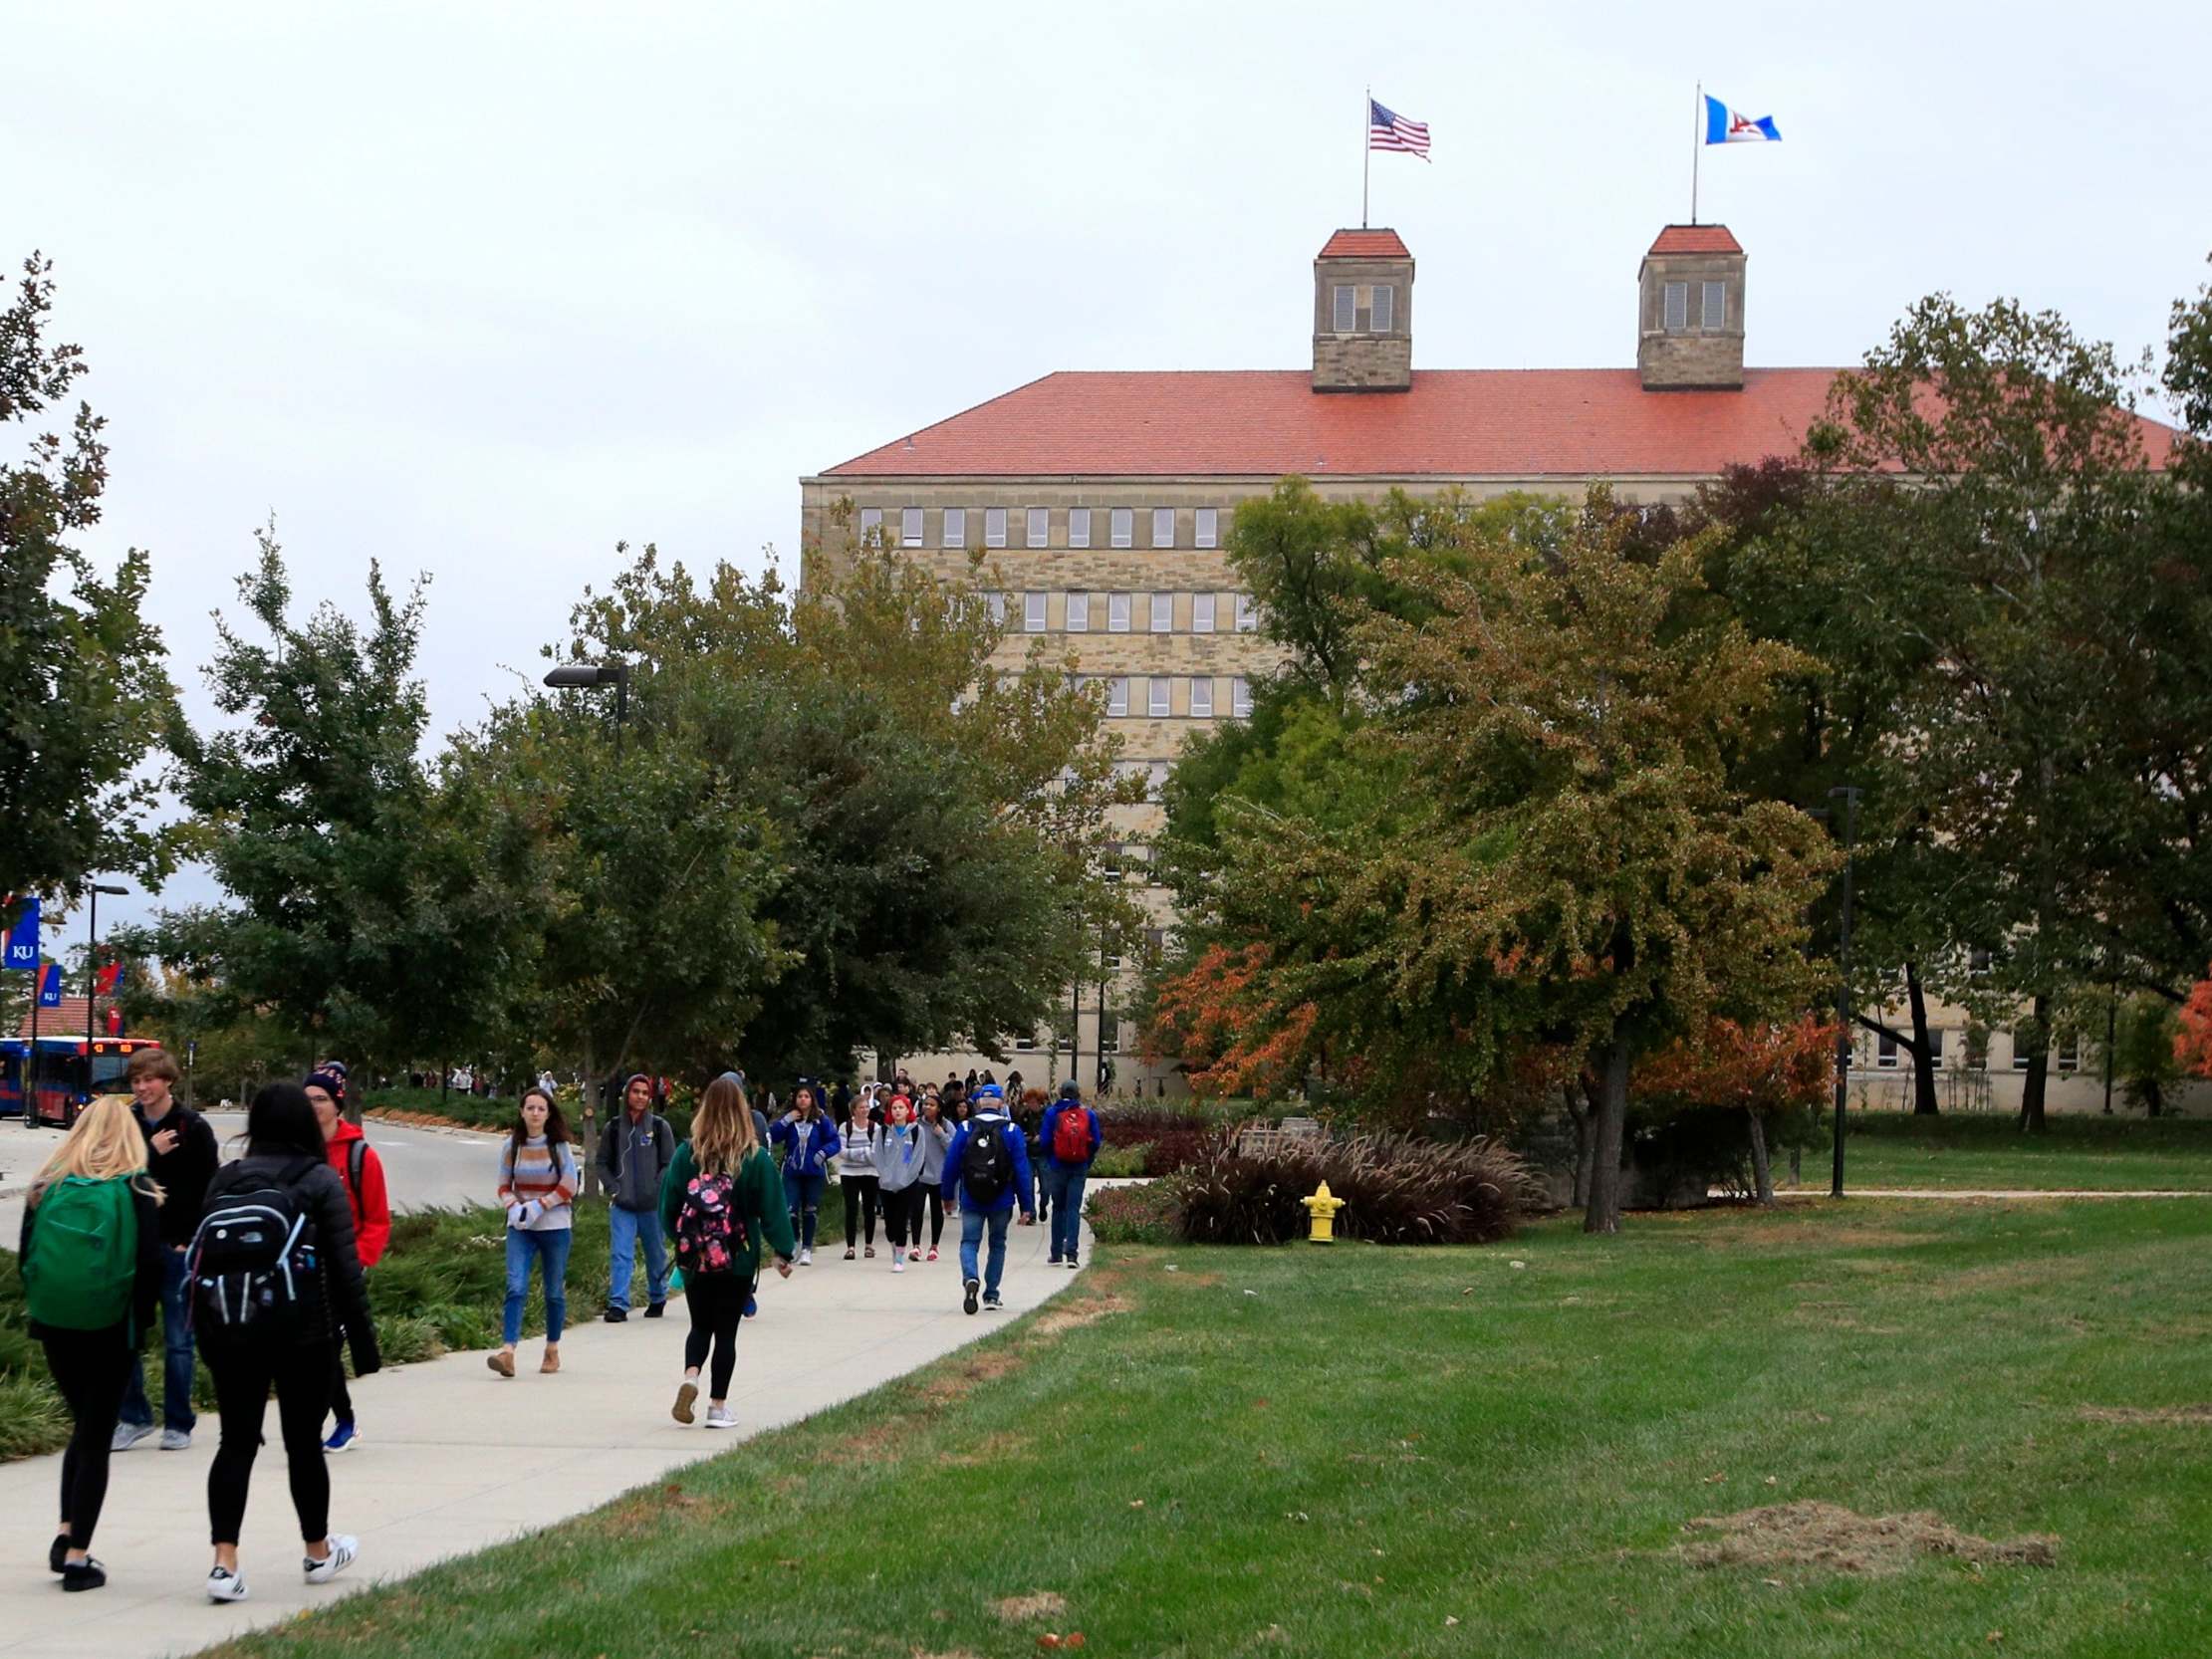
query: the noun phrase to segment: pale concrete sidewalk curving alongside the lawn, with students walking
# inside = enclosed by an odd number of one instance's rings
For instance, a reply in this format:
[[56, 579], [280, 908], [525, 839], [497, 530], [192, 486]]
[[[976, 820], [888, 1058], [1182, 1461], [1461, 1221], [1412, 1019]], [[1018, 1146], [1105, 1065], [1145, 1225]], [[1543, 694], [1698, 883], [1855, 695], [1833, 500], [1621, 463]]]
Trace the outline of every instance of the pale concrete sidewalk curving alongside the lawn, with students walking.
[[[237, 1606], [215, 1606], [201, 1593], [212, 1559], [212, 1416], [199, 1420], [190, 1451], [155, 1451], [146, 1440], [115, 1458], [93, 1540], [108, 1584], [84, 1595], [64, 1595], [46, 1573], [62, 1460], [0, 1464], [11, 1540], [0, 1566], [0, 1659], [157, 1659], [281, 1624], [367, 1584], [595, 1509], [679, 1464], [945, 1360], [1077, 1279], [1044, 1265], [1042, 1225], [1015, 1223], [1006, 1234], [1006, 1312], [971, 1318], [960, 1312], [951, 1248], [958, 1219], [947, 1221], [940, 1259], [905, 1274], [891, 1272], [883, 1245], [876, 1261], [843, 1261], [830, 1250], [790, 1281], [770, 1274], [761, 1316], [737, 1336], [734, 1433], [686, 1429], [668, 1416], [684, 1376], [681, 1298], [670, 1301], [666, 1321], [633, 1312], [626, 1325], [602, 1325], [604, 1285], [575, 1281], [568, 1307], [588, 1318], [562, 1338], [560, 1376], [538, 1374], [542, 1345], [529, 1338], [511, 1383], [487, 1369], [482, 1354], [363, 1378], [354, 1385], [363, 1442], [330, 1460], [330, 1524], [361, 1537], [361, 1559], [330, 1586], [301, 1582], [274, 1409], [239, 1542], [252, 1599]], [[1086, 1230], [1086, 1259], [1088, 1250]]]

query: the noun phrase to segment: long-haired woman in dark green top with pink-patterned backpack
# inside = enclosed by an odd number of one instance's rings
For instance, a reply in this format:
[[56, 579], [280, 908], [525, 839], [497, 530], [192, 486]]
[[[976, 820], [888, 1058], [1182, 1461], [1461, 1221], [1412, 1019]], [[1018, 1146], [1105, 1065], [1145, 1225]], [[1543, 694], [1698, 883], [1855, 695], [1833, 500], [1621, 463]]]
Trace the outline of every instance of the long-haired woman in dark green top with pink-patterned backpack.
[[717, 1077], [699, 1097], [692, 1137], [677, 1148], [661, 1183], [661, 1228], [684, 1270], [684, 1383], [670, 1411], [692, 1420], [699, 1367], [712, 1352], [706, 1427], [734, 1429], [730, 1376], [737, 1371], [737, 1323], [761, 1276], [761, 1239], [776, 1252], [776, 1272], [792, 1276], [792, 1221], [779, 1192], [776, 1164], [761, 1146], [745, 1091]]

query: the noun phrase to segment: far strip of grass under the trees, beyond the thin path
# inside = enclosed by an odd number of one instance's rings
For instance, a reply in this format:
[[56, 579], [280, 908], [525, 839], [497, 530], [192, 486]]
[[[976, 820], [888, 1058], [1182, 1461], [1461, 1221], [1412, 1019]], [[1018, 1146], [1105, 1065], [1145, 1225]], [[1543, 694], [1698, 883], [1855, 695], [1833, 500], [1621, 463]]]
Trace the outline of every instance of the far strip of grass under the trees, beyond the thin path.
[[[2212, 1192], [2212, 1119], [2051, 1117], [2022, 1135], [1995, 1113], [1911, 1117], [1851, 1113], [1845, 1188], [2020, 1188]], [[1787, 1179], [1787, 1166], [1781, 1170]], [[1827, 1192], [1829, 1155], [1803, 1159], [1803, 1186]]]

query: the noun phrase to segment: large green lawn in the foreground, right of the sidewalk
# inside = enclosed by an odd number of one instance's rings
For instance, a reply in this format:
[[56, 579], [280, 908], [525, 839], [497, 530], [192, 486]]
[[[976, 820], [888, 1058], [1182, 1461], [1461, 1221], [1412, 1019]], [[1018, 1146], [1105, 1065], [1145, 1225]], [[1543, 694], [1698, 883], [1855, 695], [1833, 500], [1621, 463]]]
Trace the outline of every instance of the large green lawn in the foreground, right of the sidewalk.
[[[2205, 1652], [2212, 1425], [2095, 1411], [2212, 1402], [2208, 1245], [2194, 1201], [1869, 1201], [1104, 1248], [920, 1383], [221, 1652]], [[1677, 1553], [1792, 1502], [2055, 1566]]]

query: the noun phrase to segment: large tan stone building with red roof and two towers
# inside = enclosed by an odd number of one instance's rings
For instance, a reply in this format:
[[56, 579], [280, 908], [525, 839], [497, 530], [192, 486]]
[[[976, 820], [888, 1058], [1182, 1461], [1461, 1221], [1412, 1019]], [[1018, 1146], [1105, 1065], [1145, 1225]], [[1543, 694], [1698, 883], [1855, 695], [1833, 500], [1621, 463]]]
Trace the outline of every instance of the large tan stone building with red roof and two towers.
[[[1836, 369], [1743, 365], [1745, 265], [1725, 226], [1661, 230], [1637, 272], [1632, 369], [1416, 369], [1413, 254], [1394, 230], [1338, 230], [1314, 259], [1307, 369], [1046, 374], [803, 478], [801, 582], [847, 544], [841, 504], [863, 535], [947, 580], [964, 580], [982, 549], [1006, 622], [998, 661], [1020, 668], [1037, 635], [1068, 646], [1108, 684], [1128, 765], [1159, 779], [1186, 737], [1243, 714], [1276, 661], [1221, 542], [1237, 502], [1285, 473], [1338, 498], [1579, 495], [1604, 480], [1659, 502], [1732, 462], [1796, 451]], [[2150, 422], [2146, 436], [2159, 451], [2170, 440]], [[1155, 825], [1155, 810], [1128, 818], [1130, 880], [1144, 880]], [[1152, 907], [1164, 918], [1157, 891]], [[1108, 1060], [1121, 1091], [1177, 1088], [1128, 1053], [1110, 989], [1079, 987], [1075, 1002], [1073, 1042], [1066, 1015], [1009, 1037], [1024, 1082], [1073, 1066], [1088, 1086]], [[1982, 1053], [1984, 1075], [2008, 1075], [2006, 1033]], [[1962, 1031], [1947, 1055], [1969, 1066]], [[1893, 1062], [1869, 1040], [1869, 1079], [1893, 1077]], [[945, 1064], [967, 1071], [973, 1057], [920, 1057], [914, 1071]]]

